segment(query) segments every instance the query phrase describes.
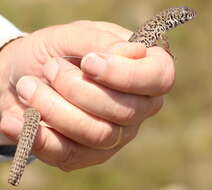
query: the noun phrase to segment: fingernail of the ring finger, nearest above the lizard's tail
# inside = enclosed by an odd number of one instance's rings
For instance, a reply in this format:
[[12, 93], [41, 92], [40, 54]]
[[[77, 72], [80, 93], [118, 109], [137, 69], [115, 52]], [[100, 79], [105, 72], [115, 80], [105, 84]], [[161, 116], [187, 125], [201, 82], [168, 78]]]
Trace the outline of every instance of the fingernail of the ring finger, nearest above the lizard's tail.
[[16, 85], [18, 95], [26, 101], [32, 98], [36, 88], [37, 82], [30, 76], [22, 77]]

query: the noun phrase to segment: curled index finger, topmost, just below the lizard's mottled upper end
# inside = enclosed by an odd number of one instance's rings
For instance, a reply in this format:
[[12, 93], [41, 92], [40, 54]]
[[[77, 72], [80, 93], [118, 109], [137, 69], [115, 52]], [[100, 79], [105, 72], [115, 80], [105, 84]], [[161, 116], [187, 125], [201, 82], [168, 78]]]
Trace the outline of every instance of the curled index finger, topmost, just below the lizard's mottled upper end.
[[158, 47], [149, 48], [147, 54], [133, 60], [91, 53], [83, 58], [81, 69], [92, 80], [122, 92], [149, 96], [167, 93], [175, 80], [173, 60]]

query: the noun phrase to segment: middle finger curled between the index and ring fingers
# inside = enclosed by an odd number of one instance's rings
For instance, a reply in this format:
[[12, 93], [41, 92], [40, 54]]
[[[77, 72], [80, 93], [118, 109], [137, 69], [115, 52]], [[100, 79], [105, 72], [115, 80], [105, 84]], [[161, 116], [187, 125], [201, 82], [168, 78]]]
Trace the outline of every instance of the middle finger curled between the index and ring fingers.
[[160, 97], [137, 96], [102, 87], [61, 58], [52, 59], [44, 68], [50, 85], [66, 100], [119, 125], [137, 126], [162, 105]]

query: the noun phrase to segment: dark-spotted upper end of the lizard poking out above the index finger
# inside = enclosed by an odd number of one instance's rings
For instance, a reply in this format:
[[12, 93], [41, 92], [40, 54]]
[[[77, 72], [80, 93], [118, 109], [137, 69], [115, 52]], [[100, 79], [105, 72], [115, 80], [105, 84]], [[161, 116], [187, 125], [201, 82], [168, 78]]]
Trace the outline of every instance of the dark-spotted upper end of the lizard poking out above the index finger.
[[129, 42], [140, 42], [148, 48], [157, 45], [157, 42], [161, 40], [163, 48], [171, 54], [166, 32], [195, 17], [196, 11], [189, 7], [169, 8], [147, 20], [133, 33]]

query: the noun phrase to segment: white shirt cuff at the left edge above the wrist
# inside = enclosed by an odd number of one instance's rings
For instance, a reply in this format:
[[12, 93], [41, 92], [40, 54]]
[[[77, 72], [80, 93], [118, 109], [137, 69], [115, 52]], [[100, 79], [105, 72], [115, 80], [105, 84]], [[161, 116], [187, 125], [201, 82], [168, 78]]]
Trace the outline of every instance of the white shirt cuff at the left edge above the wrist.
[[21, 32], [15, 25], [0, 15], [0, 48], [9, 41], [21, 36], [25, 36], [25, 33]]

